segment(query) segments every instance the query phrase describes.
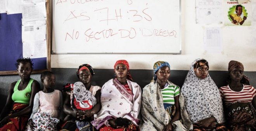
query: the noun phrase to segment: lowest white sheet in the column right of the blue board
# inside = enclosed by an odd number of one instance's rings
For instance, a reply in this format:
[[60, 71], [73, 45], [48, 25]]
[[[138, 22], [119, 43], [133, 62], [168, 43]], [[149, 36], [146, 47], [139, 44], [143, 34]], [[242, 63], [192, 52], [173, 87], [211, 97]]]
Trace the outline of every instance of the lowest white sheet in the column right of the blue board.
[[47, 56], [46, 40], [27, 41], [22, 43], [23, 57], [42, 58]]

